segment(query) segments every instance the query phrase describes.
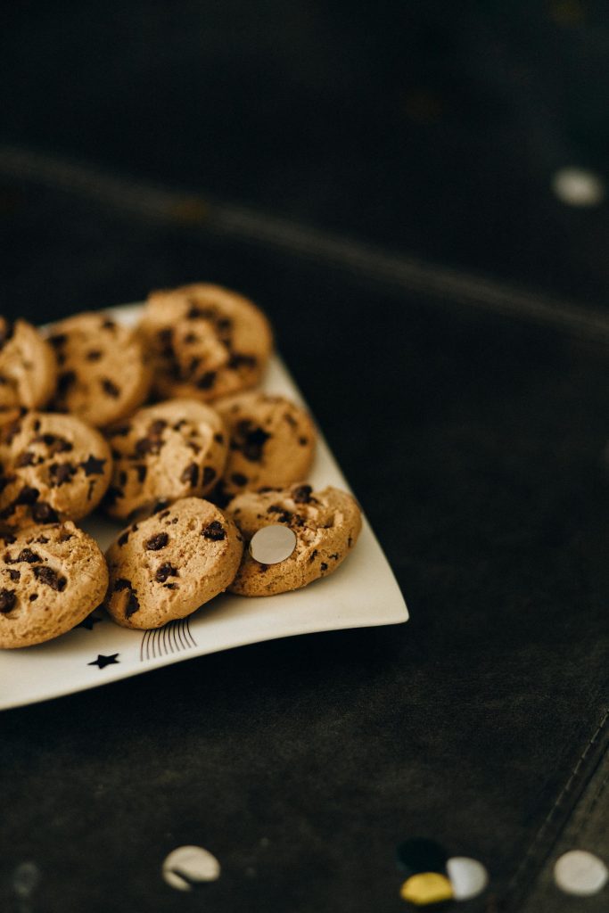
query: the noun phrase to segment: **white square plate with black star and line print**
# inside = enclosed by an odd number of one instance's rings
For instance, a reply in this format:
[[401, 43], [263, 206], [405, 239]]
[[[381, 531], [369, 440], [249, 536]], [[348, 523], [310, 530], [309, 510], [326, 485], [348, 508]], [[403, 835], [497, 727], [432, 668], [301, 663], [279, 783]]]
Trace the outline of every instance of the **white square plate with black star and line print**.
[[[141, 307], [123, 305], [110, 313], [121, 322], [134, 323]], [[277, 355], [263, 388], [304, 404]], [[349, 490], [321, 436], [309, 481], [313, 488], [334, 485]], [[97, 514], [82, 526], [102, 551], [121, 529]], [[58, 698], [233, 646], [407, 619], [404, 597], [364, 517], [360, 539], [341, 567], [293, 593], [255, 599], [224, 593], [188, 618], [152, 631], [122, 628], [98, 609], [57, 640], [0, 651], [0, 709]]]

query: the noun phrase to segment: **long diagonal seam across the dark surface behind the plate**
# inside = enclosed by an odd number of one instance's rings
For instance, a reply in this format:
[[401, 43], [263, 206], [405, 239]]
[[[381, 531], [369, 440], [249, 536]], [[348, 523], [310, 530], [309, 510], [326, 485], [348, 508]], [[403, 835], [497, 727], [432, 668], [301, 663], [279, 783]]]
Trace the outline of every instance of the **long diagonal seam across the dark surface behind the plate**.
[[385, 286], [487, 310], [583, 339], [609, 342], [609, 315], [582, 302], [511, 288], [495, 279], [407, 257], [288, 219], [142, 181], [113, 176], [16, 145], [0, 144], [0, 174], [47, 186], [191, 232], [271, 247], [373, 278]]

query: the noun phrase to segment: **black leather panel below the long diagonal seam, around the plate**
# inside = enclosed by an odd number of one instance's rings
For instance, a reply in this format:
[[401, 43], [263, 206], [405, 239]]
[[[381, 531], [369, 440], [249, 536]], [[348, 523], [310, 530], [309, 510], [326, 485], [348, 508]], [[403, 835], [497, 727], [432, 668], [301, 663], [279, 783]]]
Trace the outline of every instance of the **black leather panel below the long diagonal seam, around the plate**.
[[[12, 873], [34, 860], [32, 913], [390, 913], [404, 908], [394, 850], [416, 834], [482, 860], [502, 895], [602, 715], [606, 352], [12, 193], [12, 313], [199, 277], [257, 297], [412, 620], [5, 712], [3, 911], [21, 913]], [[223, 866], [192, 896], [160, 877], [189, 843]]]

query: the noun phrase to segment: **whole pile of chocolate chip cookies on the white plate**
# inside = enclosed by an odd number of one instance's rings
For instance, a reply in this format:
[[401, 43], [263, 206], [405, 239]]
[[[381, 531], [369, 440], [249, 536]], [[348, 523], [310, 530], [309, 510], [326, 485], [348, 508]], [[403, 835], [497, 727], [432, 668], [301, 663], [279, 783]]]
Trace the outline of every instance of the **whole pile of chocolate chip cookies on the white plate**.
[[[135, 328], [83, 313], [44, 336], [0, 318], [0, 647], [100, 603], [159, 627], [341, 564], [360, 510], [312, 490], [310, 416], [256, 389], [272, 344], [261, 310], [206, 284], [153, 292]], [[123, 526], [105, 556], [77, 525], [96, 509]]]

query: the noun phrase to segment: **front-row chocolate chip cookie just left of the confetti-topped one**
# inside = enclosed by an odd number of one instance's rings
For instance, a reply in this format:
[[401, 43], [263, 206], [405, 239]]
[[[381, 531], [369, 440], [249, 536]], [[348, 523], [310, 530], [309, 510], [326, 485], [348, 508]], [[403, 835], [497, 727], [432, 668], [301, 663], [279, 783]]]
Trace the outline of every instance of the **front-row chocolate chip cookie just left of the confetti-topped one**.
[[231, 519], [209, 501], [182, 498], [131, 524], [110, 546], [108, 612], [130, 628], [184, 618], [226, 590], [242, 552]]

